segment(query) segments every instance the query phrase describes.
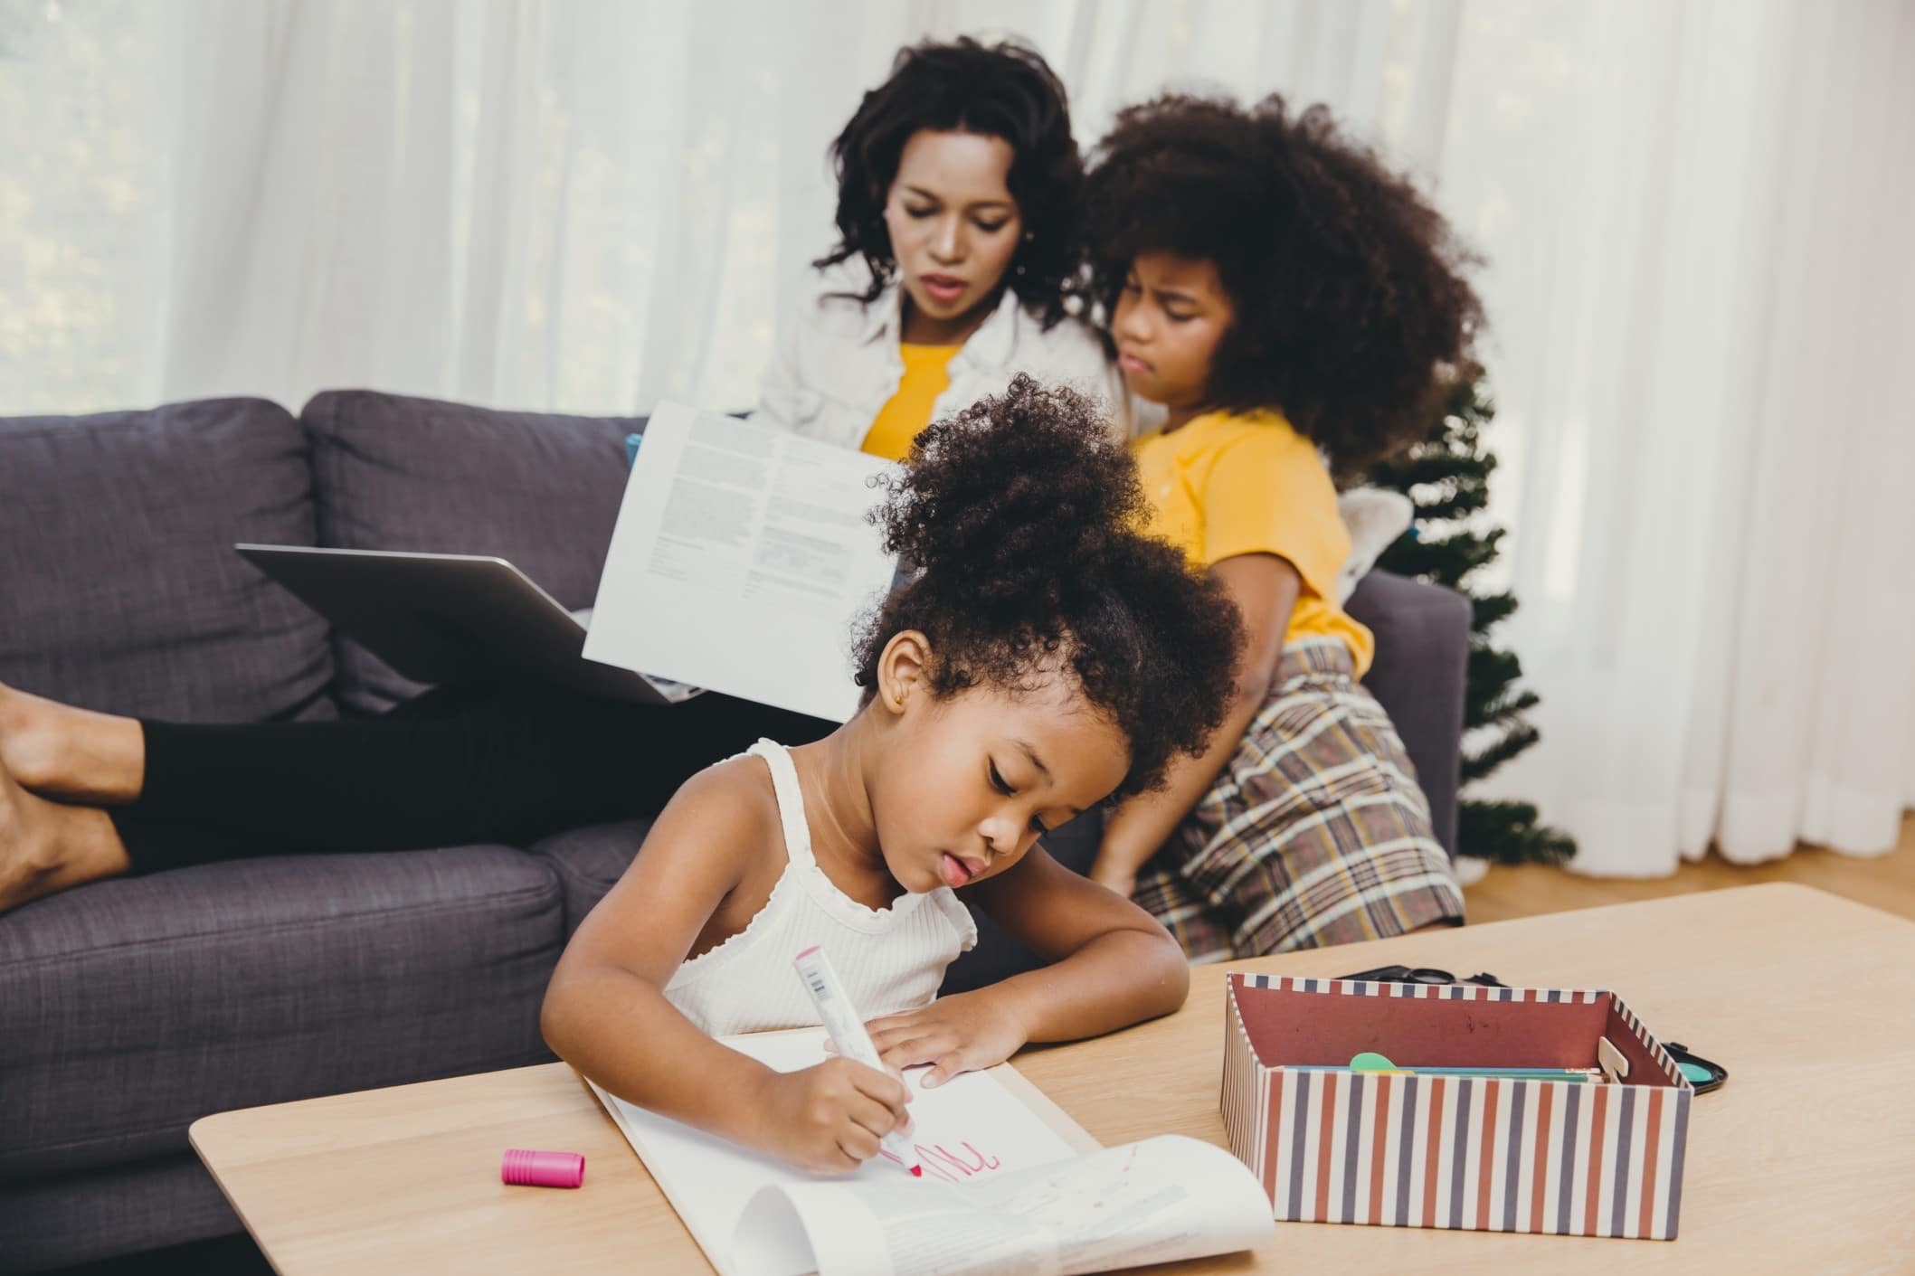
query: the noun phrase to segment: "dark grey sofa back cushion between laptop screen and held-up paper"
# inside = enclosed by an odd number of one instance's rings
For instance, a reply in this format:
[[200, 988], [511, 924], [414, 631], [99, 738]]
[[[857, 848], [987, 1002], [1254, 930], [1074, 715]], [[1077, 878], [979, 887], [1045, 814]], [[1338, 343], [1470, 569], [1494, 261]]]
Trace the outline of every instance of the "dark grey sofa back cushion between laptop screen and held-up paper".
[[[509, 559], [563, 606], [590, 606], [624, 495], [636, 417], [492, 411], [327, 390], [301, 413], [320, 543]], [[339, 641], [341, 704], [375, 714], [419, 693]]]

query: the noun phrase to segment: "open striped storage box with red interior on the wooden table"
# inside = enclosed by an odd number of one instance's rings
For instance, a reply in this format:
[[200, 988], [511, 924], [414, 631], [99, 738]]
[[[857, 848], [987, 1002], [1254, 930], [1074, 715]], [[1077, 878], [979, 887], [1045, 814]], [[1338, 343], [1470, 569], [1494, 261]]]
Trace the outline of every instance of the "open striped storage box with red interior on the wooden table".
[[[1279, 1221], [1674, 1240], [1695, 1087], [1614, 993], [1231, 974], [1224, 1127]], [[1620, 1085], [1340, 1067], [1595, 1067]]]

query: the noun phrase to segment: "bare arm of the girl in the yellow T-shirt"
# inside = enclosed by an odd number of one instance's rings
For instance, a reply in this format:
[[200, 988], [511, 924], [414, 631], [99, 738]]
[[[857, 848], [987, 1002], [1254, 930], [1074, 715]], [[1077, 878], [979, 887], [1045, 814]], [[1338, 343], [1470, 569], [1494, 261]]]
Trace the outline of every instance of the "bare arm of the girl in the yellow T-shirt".
[[1105, 825], [1090, 876], [1120, 895], [1132, 893], [1138, 869], [1157, 853], [1237, 752], [1243, 733], [1270, 693], [1270, 679], [1275, 677], [1277, 660], [1283, 656], [1283, 635], [1302, 589], [1296, 568], [1268, 553], [1224, 559], [1210, 568], [1210, 574], [1243, 612], [1245, 647], [1237, 666], [1237, 694], [1203, 756], [1172, 761], [1164, 788], [1138, 794]]

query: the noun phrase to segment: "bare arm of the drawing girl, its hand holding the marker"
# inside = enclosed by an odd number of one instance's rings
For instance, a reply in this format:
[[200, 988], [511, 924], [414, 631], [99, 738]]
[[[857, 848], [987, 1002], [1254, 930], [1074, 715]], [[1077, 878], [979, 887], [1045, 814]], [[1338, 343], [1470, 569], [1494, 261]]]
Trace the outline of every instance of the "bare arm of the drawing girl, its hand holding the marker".
[[565, 947], [540, 1027], [563, 1060], [630, 1104], [843, 1171], [902, 1123], [904, 1087], [843, 1060], [777, 1073], [707, 1037], [663, 991], [753, 859], [777, 846], [776, 803], [745, 771], [755, 765], [714, 767], [672, 798]]

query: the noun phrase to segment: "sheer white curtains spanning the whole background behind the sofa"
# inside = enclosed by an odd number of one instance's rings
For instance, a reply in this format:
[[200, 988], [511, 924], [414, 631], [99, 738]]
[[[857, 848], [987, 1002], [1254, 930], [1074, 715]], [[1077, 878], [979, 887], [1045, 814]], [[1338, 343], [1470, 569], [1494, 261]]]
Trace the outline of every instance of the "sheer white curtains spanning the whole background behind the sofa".
[[959, 31], [1038, 44], [1084, 142], [1164, 86], [1327, 101], [1488, 256], [1543, 744], [1484, 796], [1597, 874], [1894, 846], [1911, 0], [0, 0], [0, 411], [749, 404], [825, 142]]

